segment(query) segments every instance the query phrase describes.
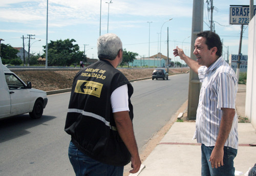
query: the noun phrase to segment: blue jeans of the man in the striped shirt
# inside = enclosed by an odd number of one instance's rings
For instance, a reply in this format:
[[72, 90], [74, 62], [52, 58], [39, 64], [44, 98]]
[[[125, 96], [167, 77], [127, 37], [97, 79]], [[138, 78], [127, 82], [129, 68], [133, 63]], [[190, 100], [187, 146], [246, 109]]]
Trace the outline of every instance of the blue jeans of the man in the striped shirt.
[[202, 176], [234, 176], [234, 157], [237, 156], [237, 149], [231, 147], [224, 147], [224, 157], [223, 157], [223, 166], [216, 168], [211, 168], [209, 162], [211, 151], [214, 149], [214, 146], [206, 147], [204, 144], [201, 146], [202, 151]]

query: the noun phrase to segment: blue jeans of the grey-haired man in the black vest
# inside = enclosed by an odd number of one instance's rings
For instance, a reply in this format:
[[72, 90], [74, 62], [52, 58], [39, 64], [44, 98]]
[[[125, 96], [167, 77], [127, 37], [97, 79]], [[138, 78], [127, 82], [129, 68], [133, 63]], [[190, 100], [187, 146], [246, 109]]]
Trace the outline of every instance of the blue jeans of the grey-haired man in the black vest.
[[100, 163], [79, 151], [76, 146], [70, 142], [69, 160], [74, 168], [76, 176], [121, 176], [123, 175], [123, 166], [113, 166]]

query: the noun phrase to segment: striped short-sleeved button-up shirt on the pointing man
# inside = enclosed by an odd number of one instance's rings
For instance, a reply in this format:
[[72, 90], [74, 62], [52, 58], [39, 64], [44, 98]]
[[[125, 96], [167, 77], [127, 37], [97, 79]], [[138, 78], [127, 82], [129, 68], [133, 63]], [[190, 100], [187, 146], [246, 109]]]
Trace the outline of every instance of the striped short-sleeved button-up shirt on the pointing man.
[[[211, 64], [209, 68], [200, 67], [198, 76], [202, 86], [197, 108], [194, 139], [205, 146], [215, 146], [222, 119], [221, 108], [236, 109], [237, 76], [222, 57]], [[225, 146], [238, 148], [237, 113], [234, 115]]]

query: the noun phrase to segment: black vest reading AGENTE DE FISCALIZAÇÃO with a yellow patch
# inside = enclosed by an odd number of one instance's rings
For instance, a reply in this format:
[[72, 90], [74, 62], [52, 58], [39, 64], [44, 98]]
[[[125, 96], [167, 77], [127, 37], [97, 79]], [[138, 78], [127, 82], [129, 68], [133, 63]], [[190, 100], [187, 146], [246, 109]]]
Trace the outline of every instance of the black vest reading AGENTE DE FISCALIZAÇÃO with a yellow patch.
[[106, 60], [99, 60], [81, 70], [74, 78], [65, 131], [85, 155], [102, 163], [124, 166], [130, 162], [116, 129], [111, 94], [127, 84], [130, 118], [133, 119], [133, 87], [127, 78]]

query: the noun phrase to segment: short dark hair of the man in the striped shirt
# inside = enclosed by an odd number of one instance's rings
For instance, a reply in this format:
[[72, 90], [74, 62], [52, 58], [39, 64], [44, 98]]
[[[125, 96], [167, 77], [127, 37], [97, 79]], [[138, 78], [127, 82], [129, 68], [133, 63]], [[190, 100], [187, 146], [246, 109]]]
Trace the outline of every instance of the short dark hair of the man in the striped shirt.
[[221, 43], [220, 36], [218, 34], [211, 31], [203, 31], [203, 32], [199, 32], [197, 34], [197, 37], [204, 37], [206, 39], [205, 44], [207, 45], [208, 50], [210, 50], [211, 48], [217, 47], [216, 55], [219, 57], [221, 56], [222, 43]]

